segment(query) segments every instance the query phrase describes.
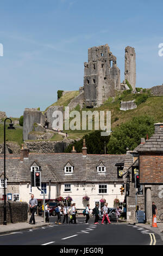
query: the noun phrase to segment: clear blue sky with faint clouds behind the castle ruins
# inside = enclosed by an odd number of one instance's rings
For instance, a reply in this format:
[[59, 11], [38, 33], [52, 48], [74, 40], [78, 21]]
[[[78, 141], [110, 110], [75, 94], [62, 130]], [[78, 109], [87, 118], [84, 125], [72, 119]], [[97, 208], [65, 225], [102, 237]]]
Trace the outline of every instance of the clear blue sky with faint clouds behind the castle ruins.
[[83, 86], [89, 47], [108, 44], [124, 80], [135, 47], [136, 87], [162, 85], [162, 0], [8, 0], [0, 6], [0, 111], [45, 110], [58, 90]]

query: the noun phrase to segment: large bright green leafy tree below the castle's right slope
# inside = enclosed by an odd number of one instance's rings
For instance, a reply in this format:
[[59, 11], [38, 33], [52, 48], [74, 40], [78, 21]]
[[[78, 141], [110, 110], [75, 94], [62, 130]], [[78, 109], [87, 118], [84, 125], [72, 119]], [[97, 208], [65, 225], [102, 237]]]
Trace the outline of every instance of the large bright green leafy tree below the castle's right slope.
[[112, 132], [107, 145], [109, 154], [125, 154], [126, 148], [134, 150], [140, 144], [141, 138], [150, 137], [154, 133], [154, 119], [143, 115], [134, 117], [130, 122], [122, 123]]

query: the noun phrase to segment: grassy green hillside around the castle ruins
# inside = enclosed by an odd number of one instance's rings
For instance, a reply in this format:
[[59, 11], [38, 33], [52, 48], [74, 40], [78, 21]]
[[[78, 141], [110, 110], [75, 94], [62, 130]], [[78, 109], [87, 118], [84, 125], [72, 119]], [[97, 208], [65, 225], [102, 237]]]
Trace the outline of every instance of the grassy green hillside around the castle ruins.
[[[52, 105], [67, 106], [71, 99], [78, 96], [78, 91], [67, 92], [57, 102]], [[121, 100], [135, 100], [137, 108], [133, 110], [122, 111], [120, 110]], [[52, 106], [51, 105], [51, 106]], [[49, 107], [48, 107], [49, 108]], [[47, 109], [48, 109], [47, 108]], [[47, 110], [46, 109], [46, 110]], [[45, 110], [45, 111], [46, 111]], [[131, 121], [133, 117], [139, 117], [141, 115], [149, 115], [154, 118], [155, 122], [163, 122], [163, 97], [153, 97], [150, 94], [150, 90], [144, 90], [142, 94], [132, 94], [129, 90], [123, 93], [117, 93], [116, 97], [109, 97], [103, 105], [98, 108], [92, 109], [80, 109], [79, 105], [75, 110], [80, 111], [81, 124], [82, 124], [82, 110], [85, 111], [111, 111], [111, 129], [114, 130], [122, 123]], [[70, 121], [72, 118], [70, 118]], [[94, 127], [93, 127], [94, 129]], [[6, 136], [8, 141], [15, 141], [18, 145], [23, 143], [22, 127], [17, 127], [16, 130], [7, 130]], [[68, 133], [70, 139], [82, 138], [85, 134], [92, 132], [92, 130], [65, 130]], [[62, 140], [62, 136], [54, 135], [51, 140]], [[3, 143], [3, 124], [0, 124], [0, 143]]]

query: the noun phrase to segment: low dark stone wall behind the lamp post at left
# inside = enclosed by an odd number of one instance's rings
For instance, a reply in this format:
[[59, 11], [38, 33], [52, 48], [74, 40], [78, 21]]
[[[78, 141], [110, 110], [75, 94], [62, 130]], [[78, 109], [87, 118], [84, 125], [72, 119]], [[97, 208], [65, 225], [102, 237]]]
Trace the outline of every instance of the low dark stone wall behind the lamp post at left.
[[[7, 201], [7, 223], [27, 222], [28, 204], [24, 202]], [[0, 224], [3, 224], [4, 201], [0, 201]]]

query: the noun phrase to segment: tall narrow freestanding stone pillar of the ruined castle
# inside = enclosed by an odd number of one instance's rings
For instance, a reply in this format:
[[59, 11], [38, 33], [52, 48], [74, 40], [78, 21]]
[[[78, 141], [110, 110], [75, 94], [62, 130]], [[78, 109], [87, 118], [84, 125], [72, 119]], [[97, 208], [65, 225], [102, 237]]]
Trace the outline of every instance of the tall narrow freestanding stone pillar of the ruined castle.
[[129, 82], [135, 91], [136, 85], [136, 55], [133, 47], [127, 46], [125, 49], [125, 72], [124, 79]]

